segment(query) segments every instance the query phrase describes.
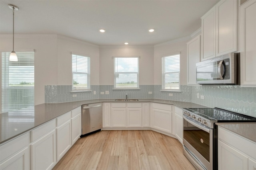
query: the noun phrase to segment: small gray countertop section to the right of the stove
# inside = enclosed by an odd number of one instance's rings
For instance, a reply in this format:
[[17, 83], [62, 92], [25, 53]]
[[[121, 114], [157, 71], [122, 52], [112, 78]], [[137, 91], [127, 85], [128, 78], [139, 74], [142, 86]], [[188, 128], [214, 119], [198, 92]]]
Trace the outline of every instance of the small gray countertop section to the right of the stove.
[[256, 122], [216, 123], [216, 125], [256, 143]]

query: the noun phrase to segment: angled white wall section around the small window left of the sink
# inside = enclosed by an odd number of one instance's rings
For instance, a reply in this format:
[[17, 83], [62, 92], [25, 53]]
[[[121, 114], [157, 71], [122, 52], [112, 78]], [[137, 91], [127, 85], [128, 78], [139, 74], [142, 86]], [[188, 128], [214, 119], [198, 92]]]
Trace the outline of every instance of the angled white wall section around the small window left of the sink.
[[57, 85], [72, 85], [72, 53], [90, 57], [91, 85], [98, 85], [99, 47], [84, 41], [58, 35], [58, 82]]

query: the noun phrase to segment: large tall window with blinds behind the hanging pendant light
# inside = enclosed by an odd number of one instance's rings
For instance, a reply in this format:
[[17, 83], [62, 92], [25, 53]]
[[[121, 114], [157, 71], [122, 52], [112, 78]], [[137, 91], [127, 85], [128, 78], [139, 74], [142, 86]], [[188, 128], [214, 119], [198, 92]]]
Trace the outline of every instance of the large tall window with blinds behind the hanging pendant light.
[[15, 62], [2, 52], [2, 112], [34, 110], [34, 52], [16, 54]]

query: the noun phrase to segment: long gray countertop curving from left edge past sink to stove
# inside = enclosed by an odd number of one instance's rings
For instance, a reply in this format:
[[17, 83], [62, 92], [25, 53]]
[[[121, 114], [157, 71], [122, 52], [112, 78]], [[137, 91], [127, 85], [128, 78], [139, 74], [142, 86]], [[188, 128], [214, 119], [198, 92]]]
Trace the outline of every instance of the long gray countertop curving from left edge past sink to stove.
[[[0, 144], [8, 140], [14, 139], [18, 135], [30, 131], [56, 117], [82, 106], [83, 104], [93, 104], [100, 102], [115, 102], [114, 99], [97, 99], [97, 100], [83, 100], [77, 102], [66, 103], [46, 103], [39, 104], [32, 108], [32, 112], [26, 110], [17, 110], [7, 113], [0, 113]], [[160, 99], [139, 99], [138, 102], [156, 102], [162, 104], [171, 104], [180, 108], [202, 108], [205, 106], [194, 104], [190, 102], [178, 102], [172, 100]]]

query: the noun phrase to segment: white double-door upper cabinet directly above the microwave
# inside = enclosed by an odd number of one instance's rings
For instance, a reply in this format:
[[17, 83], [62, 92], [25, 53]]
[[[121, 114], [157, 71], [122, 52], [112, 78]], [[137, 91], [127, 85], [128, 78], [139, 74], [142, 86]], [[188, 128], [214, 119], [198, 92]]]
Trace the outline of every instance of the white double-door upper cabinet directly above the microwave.
[[202, 16], [201, 60], [238, 50], [238, 0], [221, 0]]

